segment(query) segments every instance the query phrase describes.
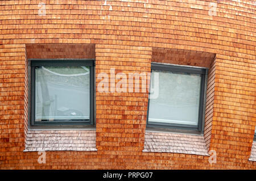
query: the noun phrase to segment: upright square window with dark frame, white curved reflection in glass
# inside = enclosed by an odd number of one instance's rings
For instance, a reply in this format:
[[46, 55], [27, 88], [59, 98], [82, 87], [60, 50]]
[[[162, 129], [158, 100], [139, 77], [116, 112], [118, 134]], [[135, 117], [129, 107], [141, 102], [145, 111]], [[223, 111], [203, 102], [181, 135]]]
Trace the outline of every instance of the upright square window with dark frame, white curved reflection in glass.
[[93, 124], [94, 60], [31, 60], [31, 125]]

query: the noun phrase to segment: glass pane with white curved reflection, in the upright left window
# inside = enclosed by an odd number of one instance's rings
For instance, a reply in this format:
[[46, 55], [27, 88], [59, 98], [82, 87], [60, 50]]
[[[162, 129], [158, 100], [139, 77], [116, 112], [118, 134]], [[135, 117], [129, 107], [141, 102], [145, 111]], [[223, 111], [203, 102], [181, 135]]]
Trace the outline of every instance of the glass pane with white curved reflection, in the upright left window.
[[88, 66], [35, 69], [35, 121], [84, 120], [90, 112]]

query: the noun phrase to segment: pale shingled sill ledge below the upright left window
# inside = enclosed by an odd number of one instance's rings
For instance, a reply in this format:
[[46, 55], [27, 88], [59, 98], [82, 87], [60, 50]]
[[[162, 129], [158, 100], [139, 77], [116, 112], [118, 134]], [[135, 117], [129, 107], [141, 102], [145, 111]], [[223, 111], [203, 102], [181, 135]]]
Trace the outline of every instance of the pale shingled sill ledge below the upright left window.
[[23, 151], [97, 151], [96, 130], [28, 130]]

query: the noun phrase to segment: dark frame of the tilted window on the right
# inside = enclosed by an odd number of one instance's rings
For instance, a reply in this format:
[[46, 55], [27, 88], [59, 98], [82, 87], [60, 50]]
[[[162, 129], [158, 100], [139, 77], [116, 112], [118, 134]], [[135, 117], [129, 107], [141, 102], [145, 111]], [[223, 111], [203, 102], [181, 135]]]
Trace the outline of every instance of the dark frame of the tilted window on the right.
[[[147, 107], [147, 128], [153, 129], [168, 129], [170, 131], [188, 131], [195, 133], [203, 133], [204, 129], [204, 114], [205, 114], [205, 100], [206, 100], [206, 88], [207, 88], [207, 68], [195, 68], [190, 66], [182, 66], [182, 65], [172, 65], [172, 64], [159, 64], [156, 62], [151, 63], [151, 73], [152, 70], [164, 70], [170, 71], [174, 73], [188, 73], [188, 74], [200, 74], [201, 75], [201, 85], [200, 85], [200, 104], [199, 104], [199, 121], [196, 126], [186, 125], [186, 124], [174, 124], [174, 123], [149, 123], [148, 122], [148, 113], [150, 107], [150, 92], [148, 96], [148, 107]], [[150, 81], [151, 83], [151, 81]]]

